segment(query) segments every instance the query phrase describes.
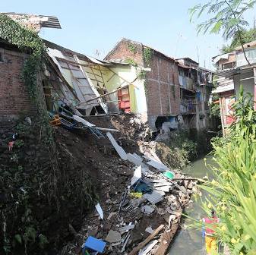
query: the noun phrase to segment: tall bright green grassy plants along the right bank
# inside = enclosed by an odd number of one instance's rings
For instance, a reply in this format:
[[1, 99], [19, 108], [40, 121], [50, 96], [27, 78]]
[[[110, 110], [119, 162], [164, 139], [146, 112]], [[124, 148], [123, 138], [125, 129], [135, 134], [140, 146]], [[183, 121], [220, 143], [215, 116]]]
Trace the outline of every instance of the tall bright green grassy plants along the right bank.
[[[256, 253], [256, 112], [251, 96], [234, 103], [235, 123], [225, 138], [213, 140], [214, 178], [201, 185], [208, 192], [201, 205], [220, 218], [216, 237], [232, 254]], [[200, 222], [194, 222], [201, 228]]]

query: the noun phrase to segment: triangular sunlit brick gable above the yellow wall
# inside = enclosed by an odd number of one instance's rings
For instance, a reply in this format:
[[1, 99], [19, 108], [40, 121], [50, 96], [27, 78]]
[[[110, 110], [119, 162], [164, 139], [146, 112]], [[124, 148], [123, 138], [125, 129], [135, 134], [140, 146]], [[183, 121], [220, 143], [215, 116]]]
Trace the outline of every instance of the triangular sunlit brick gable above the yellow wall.
[[[129, 45], [132, 45], [136, 52], [132, 52], [129, 49]], [[128, 39], [122, 39], [114, 49], [106, 56], [106, 60], [116, 60], [122, 59], [122, 61], [127, 60], [128, 58], [133, 59], [137, 65], [144, 65], [143, 63], [143, 48], [140, 43], [132, 42]]]

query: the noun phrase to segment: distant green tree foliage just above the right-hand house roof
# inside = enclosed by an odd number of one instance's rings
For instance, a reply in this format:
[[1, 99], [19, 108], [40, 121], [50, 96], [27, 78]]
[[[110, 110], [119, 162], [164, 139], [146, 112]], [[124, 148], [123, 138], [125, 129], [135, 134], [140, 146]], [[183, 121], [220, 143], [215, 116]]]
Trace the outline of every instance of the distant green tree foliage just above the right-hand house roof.
[[[241, 30], [242, 44], [256, 40], [256, 30], [251, 28], [250, 30]], [[232, 52], [235, 47], [240, 46], [239, 33], [235, 33], [232, 37], [232, 42], [229, 46], [223, 46], [222, 53]]]

